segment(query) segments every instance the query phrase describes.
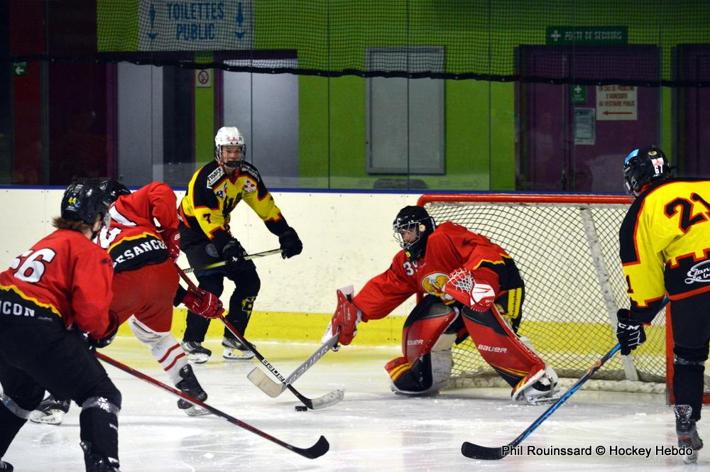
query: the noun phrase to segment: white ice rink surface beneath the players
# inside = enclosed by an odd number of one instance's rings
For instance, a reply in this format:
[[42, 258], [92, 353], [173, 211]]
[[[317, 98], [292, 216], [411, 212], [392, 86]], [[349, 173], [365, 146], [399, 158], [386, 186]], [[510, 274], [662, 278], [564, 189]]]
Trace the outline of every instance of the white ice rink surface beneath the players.
[[[383, 370], [384, 363], [398, 355], [395, 348], [347, 346], [327, 353], [295, 383], [311, 398], [342, 388], [344, 400], [324, 410], [297, 412], [294, 406], [300, 402], [290, 392], [271, 398], [247, 380], [256, 360], [226, 363], [216, 342], [206, 345], [214, 354], [195, 371], [209, 394], [209, 405], [297, 447], [309, 447], [323, 435], [329, 452], [306, 459], [223, 419], [187, 417], [175, 406], [173, 395], [107, 366], [124, 397], [119, 416], [121, 471], [710, 471], [710, 450], [701, 451], [697, 466], [656, 450], [676, 441], [672, 410], [663, 395], [579, 391], [523, 441], [522, 454], [472, 461], [461, 456], [462, 441], [508, 444], [545, 407], [514, 404], [503, 388], [400, 397], [389, 390]], [[257, 345], [284, 375], [316, 347]], [[103, 352], [168, 381], [147, 349], [133, 339], [117, 339]], [[710, 439], [705, 423], [699, 423], [699, 432]], [[530, 453], [528, 446], [540, 455]], [[591, 447], [591, 454], [545, 454], [551, 447]], [[83, 471], [79, 408], [72, 405], [60, 426], [26, 424], [4, 459], [18, 472]]]

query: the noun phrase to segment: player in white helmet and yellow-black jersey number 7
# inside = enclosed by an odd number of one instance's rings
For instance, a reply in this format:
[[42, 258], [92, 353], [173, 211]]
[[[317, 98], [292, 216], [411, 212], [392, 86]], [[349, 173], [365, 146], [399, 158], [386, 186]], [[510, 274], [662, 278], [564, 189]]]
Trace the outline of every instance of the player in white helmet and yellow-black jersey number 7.
[[[296, 231], [288, 225], [266, 189], [256, 167], [246, 162], [244, 136], [234, 126], [219, 128], [214, 137], [214, 161], [192, 175], [187, 193], [180, 202], [180, 247], [190, 265], [205, 265], [226, 261], [218, 268], [195, 273], [200, 288], [222, 295], [224, 278], [236, 285], [229, 298], [229, 314], [226, 319], [244, 334], [261, 281], [256, 266], [245, 260], [246, 251], [229, 231], [229, 214], [239, 202], [244, 201], [266, 224], [272, 234], [278, 236], [283, 258], [300, 254], [302, 243]], [[202, 346], [209, 319], [192, 312], [187, 313], [187, 329], [182, 338], [182, 348], [195, 363], [207, 362], [212, 354]], [[224, 329], [223, 357], [248, 359], [253, 353], [242, 346], [229, 330]]]

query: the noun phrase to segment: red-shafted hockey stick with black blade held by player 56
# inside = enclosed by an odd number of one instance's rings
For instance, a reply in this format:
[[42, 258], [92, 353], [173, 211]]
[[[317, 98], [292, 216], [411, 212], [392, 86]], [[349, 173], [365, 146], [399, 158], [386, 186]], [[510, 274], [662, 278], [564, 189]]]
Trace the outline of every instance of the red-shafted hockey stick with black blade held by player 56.
[[251, 424], [247, 424], [241, 421], [241, 419], [236, 419], [235, 417], [227, 415], [226, 413], [217, 410], [217, 408], [211, 407], [207, 405], [207, 403], [201, 402], [200, 400], [197, 400], [197, 398], [191, 397], [190, 395], [187, 395], [187, 393], [181, 392], [177, 388], [170, 387], [170, 385], [165, 385], [164, 383], [159, 382], [158, 380], [155, 380], [154, 378], [142, 372], [136, 371], [136, 369], [126, 366], [125, 364], [120, 363], [119, 361], [116, 361], [115, 359], [110, 358], [109, 356], [106, 356], [99, 352], [95, 354], [97, 358], [101, 359], [105, 363], [111, 364], [111, 366], [114, 366], [115, 368], [121, 369], [121, 371], [127, 372], [137, 378], [140, 378], [141, 380], [145, 380], [146, 382], [151, 383], [158, 388], [162, 388], [168, 393], [172, 393], [173, 395], [182, 398], [182, 400], [185, 400], [186, 402], [192, 403], [192, 405], [197, 405], [198, 407], [204, 408], [204, 410], [209, 411], [210, 413], [212, 413], [212, 415], [215, 415], [222, 419], [226, 419], [226, 421], [230, 422], [231, 424], [236, 424], [236, 426], [244, 428], [247, 431], [253, 432], [256, 435], [263, 437], [263, 439], [278, 444], [279, 446], [285, 447], [286, 449], [289, 449], [290, 451], [293, 451], [296, 454], [300, 454], [301, 456], [307, 457], [308, 459], [315, 459], [317, 457], [320, 457], [323, 454], [327, 453], [328, 449], [330, 449], [330, 445], [328, 444], [327, 439], [325, 439], [325, 437], [323, 436], [321, 436], [315, 444], [306, 449], [292, 446], [291, 444], [288, 444], [284, 441], [281, 441], [280, 439], [271, 436], [271, 434], [267, 434], [261, 431], [261, 429], [256, 429], [255, 427], [251, 426]]

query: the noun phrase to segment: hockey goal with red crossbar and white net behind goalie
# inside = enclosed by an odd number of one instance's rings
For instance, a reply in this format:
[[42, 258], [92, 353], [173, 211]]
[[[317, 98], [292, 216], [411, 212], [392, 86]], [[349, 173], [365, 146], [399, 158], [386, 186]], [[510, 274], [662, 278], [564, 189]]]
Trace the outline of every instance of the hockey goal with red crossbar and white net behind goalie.
[[[628, 307], [618, 229], [628, 197], [425, 194], [437, 223], [454, 221], [506, 249], [525, 280], [518, 334], [560, 378], [577, 379], [616, 344], [616, 310]], [[632, 356], [615, 356], [591, 388], [662, 392], [667, 385], [665, 310]], [[452, 385], [495, 385], [496, 375], [466, 339], [454, 346]], [[706, 390], [708, 390], [706, 376]], [[564, 386], [564, 382], [561, 381]]]

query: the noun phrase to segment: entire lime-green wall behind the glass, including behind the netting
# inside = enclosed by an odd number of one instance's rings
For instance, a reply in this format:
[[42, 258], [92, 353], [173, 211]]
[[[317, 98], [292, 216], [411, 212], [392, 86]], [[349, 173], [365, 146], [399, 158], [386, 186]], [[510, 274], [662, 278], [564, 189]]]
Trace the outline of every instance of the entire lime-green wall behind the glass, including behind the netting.
[[[254, 48], [295, 50], [298, 67], [357, 73], [372, 46], [437, 45], [445, 70], [513, 75], [518, 45], [545, 44], [547, 26], [626, 26], [629, 44], [657, 44], [664, 79], [671, 50], [710, 43], [707, 1], [699, 0], [252, 0]], [[135, 51], [138, 0], [97, 0], [98, 50]], [[208, 53], [209, 55], [209, 53]], [[299, 77], [302, 187], [371, 189], [366, 173], [366, 79]], [[474, 79], [445, 84], [445, 175], [415, 175], [434, 189], [514, 190], [515, 85]], [[197, 148], [209, 148], [212, 91], [197, 91]], [[673, 154], [672, 101], [663, 89], [660, 140]], [[200, 151], [202, 155], [202, 151]], [[406, 182], [405, 182], [406, 183]]]

